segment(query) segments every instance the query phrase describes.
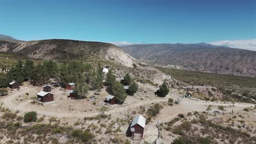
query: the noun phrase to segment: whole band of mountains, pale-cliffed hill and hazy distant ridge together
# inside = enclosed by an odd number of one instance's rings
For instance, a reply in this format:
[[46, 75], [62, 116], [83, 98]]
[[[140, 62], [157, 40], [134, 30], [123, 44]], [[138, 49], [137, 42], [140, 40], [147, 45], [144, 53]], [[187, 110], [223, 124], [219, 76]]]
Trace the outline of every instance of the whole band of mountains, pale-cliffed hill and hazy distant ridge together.
[[206, 43], [137, 44], [123, 46], [121, 50], [116, 45], [101, 42], [65, 39], [20, 41], [8, 35], [0, 36], [0, 52], [35, 59], [97, 59], [130, 68], [141, 67], [139, 61], [146, 61], [156, 67], [256, 77], [256, 51], [227, 46]]

